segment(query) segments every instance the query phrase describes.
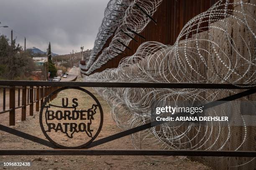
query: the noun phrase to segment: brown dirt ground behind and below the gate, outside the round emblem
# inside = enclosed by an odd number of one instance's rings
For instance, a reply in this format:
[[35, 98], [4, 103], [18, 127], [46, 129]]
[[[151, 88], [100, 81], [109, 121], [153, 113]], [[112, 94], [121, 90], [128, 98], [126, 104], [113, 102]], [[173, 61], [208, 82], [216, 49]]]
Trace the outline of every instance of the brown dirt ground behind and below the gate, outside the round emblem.
[[[77, 80], [79, 81], [79, 79]], [[96, 139], [104, 138], [122, 130], [118, 128], [110, 115], [110, 108], [92, 88], [87, 88], [93, 93], [102, 105], [104, 122], [102, 130]], [[69, 94], [67, 94], [69, 96]], [[28, 108], [29, 109], [29, 108]], [[20, 121], [20, 112], [16, 114], [16, 124], [12, 126], [17, 130], [46, 139], [39, 124], [39, 112], [34, 111], [34, 116]], [[0, 115], [0, 123], [8, 125], [8, 114]], [[0, 149], [50, 149], [44, 145], [0, 131]], [[99, 145], [93, 149], [133, 149], [130, 136], [120, 138]], [[211, 170], [187, 158], [176, 161], [178, 157], [165, 158], [157, 161], [145, 156], [0, 156], [0, 163], [4, 162], [31, 162], [30, 167], [3, 167], [0, 169], [31, 169], [31, 170]]]

